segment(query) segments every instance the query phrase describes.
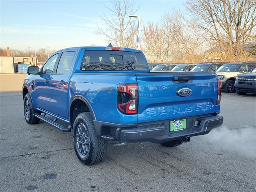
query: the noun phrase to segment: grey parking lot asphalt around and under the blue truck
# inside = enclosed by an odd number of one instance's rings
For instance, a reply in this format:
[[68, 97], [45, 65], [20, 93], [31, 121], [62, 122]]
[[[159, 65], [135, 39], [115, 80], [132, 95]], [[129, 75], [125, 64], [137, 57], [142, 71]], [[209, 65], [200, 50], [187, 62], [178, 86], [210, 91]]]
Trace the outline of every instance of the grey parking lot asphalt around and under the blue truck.
[[222, 92], [223, 126], [174, 148], [109, 142], [100, 164], [85, 166], [70, 132], [29, 125], [22, 93], [0, 95], [0, 191], [255, 191], [256, 97]]

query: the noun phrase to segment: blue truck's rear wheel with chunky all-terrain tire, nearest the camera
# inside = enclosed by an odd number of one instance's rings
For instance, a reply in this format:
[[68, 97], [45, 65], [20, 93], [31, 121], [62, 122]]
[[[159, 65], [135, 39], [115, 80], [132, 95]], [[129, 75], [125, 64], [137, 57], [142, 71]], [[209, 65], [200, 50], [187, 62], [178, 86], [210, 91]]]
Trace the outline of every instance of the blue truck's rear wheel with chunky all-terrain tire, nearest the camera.
[[[84, 134], [87, 135], [86, 137], [82, 138], [82, 136], [80, 136], [78, 130], [80, 129], [79, 126], [84, 126], [84, 128], [86, 128], [86, 134]], [[108, 141], [100, 138], [96, 134], [90, 112], [83, 112], [78, 114], [76, 120], [74, 121], [72, 133], [76, 155], [83, 164], [92, 165], [102, 161], [103, 157], [106, 155], [107, 152]], [[87, 142], [89, 144], [88, 151], [84, 152], [84, 150], [82, 150], [82, 146], [80, 146], [81, 143], [78, 144], [78, 142], [80, 142], [82, 139], [82, 141], [84, 141], [84, 139], [86, 138], [88, 139]], [[85, 145], [85, 143], [86, 142], [84, 142], [83, 146]], [[82, 150], [82, 152], [80, 150]]]

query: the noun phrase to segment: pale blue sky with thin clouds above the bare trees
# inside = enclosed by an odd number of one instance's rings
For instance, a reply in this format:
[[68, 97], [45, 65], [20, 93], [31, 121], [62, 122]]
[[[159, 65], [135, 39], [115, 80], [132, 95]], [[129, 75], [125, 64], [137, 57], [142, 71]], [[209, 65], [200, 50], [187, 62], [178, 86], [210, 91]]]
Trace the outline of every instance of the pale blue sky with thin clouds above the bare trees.
[[[106, 46], [106, 38], [96, 35], [100, 16], [110, 14], [109, 0], [0, 0], [0, 47], [24, 50], [51, 50], [72, 46]], [[185, 0], [134, 0], [142, 24], [157, 21], [173, 8], [183, 8]]]

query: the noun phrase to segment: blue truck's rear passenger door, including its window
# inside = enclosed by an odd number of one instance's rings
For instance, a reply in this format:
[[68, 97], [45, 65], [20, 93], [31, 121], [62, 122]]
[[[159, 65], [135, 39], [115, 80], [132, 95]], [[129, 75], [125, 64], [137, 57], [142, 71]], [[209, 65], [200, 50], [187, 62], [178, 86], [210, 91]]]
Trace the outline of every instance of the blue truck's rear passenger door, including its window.
[[51, 113], [68, 119], [68, 82], [76, 51], [62, 52], [56, 72], [49, 81]]

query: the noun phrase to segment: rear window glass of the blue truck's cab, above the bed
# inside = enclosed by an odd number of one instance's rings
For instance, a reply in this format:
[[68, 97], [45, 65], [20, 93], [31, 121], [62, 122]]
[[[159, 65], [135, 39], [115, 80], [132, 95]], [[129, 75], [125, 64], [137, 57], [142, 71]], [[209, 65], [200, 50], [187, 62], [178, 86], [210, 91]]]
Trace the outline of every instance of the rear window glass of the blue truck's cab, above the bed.
[[127, 51], [85, 51], [83, 71], [148, 70], [141, 53]]

